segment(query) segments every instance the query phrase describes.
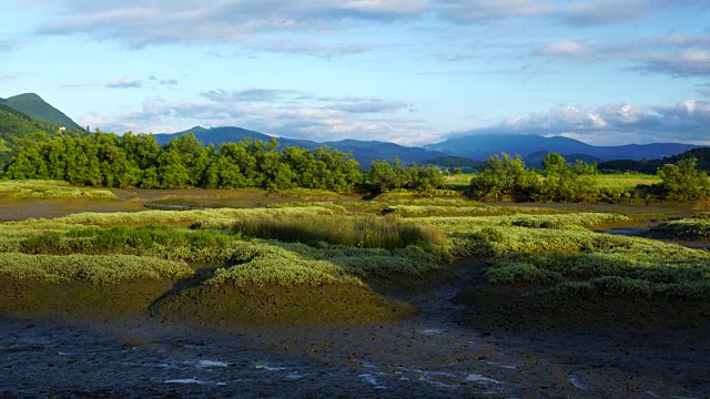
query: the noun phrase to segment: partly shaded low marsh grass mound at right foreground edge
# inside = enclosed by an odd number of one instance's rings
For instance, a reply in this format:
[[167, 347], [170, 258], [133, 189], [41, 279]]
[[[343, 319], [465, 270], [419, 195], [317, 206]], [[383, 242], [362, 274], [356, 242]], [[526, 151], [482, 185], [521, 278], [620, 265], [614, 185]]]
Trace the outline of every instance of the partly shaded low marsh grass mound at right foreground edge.
[[707, 252], [632, 237], [557, 249], [508, 252], [489, 263], [486, 279], [547, 285], [558, 294], [710, 297]]

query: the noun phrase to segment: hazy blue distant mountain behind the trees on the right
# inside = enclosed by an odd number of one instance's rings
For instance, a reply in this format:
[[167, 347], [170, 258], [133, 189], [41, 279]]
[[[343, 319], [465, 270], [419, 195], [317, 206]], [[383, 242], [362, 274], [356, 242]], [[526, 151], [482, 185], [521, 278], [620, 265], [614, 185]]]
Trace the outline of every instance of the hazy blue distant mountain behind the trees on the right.
[[554, 136], [542, 137], [534, 134], [480, 134], [453, 137], [442, 143], [428, 144], [424, 149], [440, 151], [450, 155], [485, 160], [493, 154], [506, 152], [510, 155], [527, 157], [534, 153], [556, 152], [562, 155], [588, 155], [600, 161], [618, 158], [660, 158], [672, 156], [697, 145], [678, 143], [628, 144], [619, 146], [596, 146], [580, 141]]

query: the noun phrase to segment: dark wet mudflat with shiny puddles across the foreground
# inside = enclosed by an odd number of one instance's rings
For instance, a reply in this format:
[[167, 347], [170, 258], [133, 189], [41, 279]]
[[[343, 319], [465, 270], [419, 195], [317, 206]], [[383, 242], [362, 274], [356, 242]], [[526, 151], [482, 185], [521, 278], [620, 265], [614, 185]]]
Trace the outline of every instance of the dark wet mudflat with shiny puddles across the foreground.
[[[707, 306], [669, 328], [639, 325], [647, 314], [627, 319], [632, 313], [601, 324], [597, 315], [587, 327], [579, 315], [549, 323], [534, 308], [501, 320], [516, 301], [479, 301], [488, 295], [476, 289], [480, 272], [463, 264], [432, 290], [396, 294], [420, 313], [369, 325], [6, 317], [0, 397], [710, 397]], [[576, 306], [558, 305], [560, 317]]]

